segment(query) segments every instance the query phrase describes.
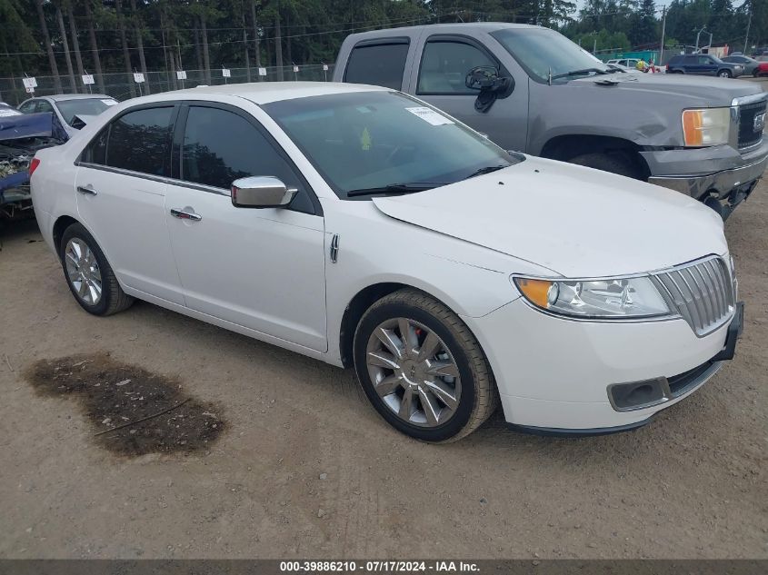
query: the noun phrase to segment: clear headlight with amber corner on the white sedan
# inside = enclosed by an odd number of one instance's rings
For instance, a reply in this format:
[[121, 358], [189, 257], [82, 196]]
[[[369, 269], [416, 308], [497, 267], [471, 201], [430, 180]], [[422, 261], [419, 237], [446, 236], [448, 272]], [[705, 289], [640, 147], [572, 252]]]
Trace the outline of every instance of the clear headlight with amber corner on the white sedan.
[[514, 277], [528, 302], [547, 312], [584, 319], [668, 315], [669, 307], [648, 277], [550, 281]]

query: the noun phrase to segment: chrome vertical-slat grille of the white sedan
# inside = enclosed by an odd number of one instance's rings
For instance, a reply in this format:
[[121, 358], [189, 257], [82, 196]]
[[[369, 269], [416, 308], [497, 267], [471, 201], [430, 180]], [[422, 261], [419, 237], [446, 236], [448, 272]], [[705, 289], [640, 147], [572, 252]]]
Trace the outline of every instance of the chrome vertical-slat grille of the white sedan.
[[698, 336], [713, 332], [733, 315], [733, 278], [723, 258], [711, 256], [652, 277], [670, 309]]

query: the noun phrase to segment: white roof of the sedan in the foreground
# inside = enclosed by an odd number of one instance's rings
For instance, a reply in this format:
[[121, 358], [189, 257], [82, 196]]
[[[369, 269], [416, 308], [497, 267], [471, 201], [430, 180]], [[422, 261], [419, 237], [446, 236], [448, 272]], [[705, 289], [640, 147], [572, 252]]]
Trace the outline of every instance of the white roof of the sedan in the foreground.
[[391, 88], [364, 84], [340, 84], [335, 82], [252, 82], [250, 84], [222, 84], [198, 86], [185, 90], [163, 92], [130, 102], [159, 102], [163, 100], [184, 99], [192, 96], [198, 99], [201, 94], [237, 96], [250, 100], [254, 104], [270, 104], [282, 100], [293, 100], [316, 95], [352, 94], [355, 92], [392, 91]]

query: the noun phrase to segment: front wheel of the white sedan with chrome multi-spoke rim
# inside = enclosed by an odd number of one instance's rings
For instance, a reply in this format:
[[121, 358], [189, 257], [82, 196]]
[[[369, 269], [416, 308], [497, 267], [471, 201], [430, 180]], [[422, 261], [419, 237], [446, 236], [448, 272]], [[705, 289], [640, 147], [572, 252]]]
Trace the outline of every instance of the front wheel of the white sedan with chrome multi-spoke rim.
[[354, 367], [374, 409], [396, 430], [456, 441], [498, 405], [494, 376], [462, 320], [424, 292], [375, 302], [354, 333]]

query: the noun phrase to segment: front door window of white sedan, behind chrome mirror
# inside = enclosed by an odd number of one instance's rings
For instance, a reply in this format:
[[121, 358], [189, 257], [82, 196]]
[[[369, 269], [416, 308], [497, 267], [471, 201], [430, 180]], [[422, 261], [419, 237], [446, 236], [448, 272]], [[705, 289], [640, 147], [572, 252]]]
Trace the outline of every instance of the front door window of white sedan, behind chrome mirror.
[[314, 213], [304, 181], [270, 140], [244, 117], [218, 108], [191, 106], [182, 147], [181, 177], [229, 190], [234, 180], [272, 175], [299, 189], [291, 207]]

